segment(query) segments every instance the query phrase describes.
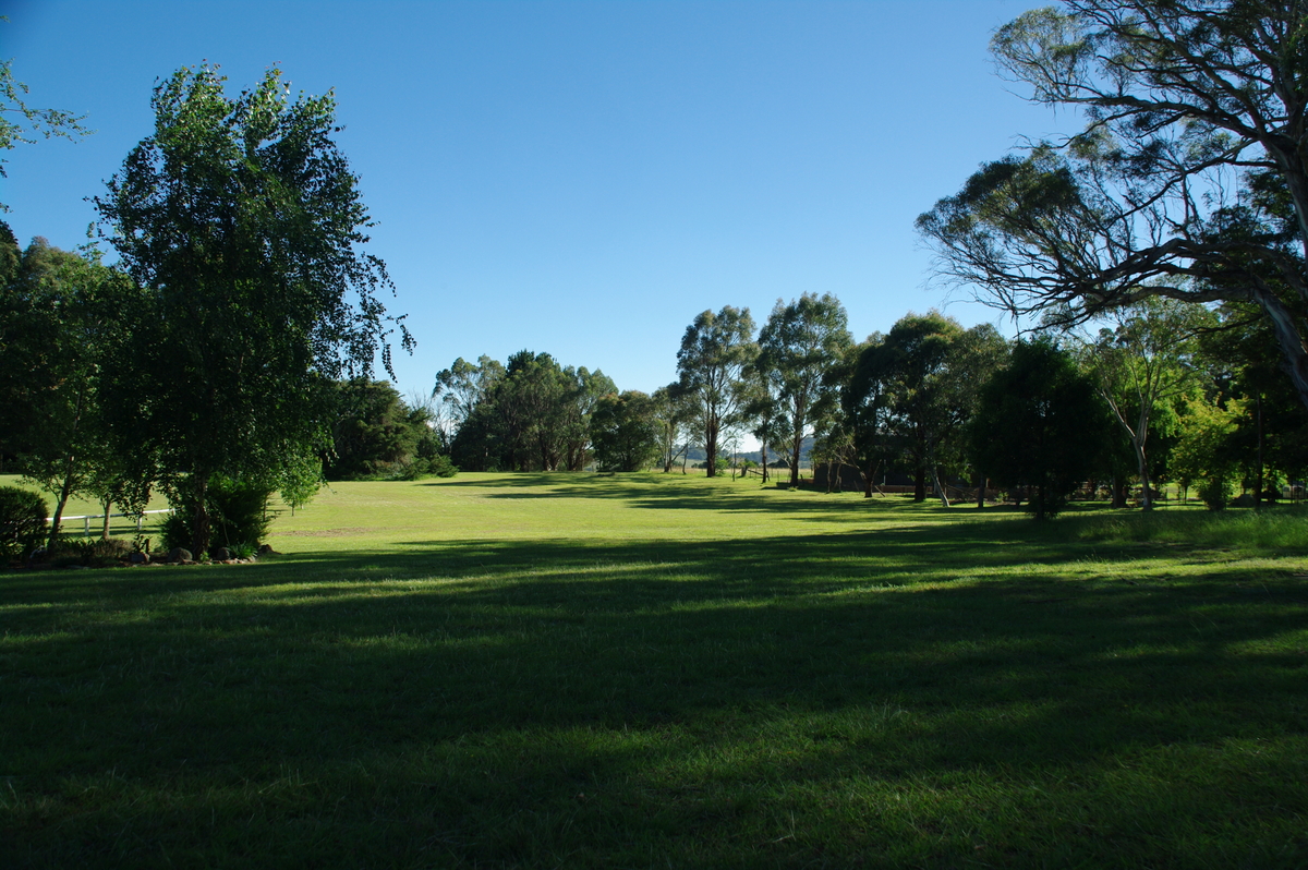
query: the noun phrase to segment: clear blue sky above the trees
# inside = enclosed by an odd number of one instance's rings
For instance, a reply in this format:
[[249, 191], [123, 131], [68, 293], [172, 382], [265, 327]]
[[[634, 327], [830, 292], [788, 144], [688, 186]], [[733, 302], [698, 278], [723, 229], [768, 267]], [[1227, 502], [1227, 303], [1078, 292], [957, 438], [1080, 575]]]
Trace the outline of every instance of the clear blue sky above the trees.
[[991, 31], [1036, 5], [0, 0], [29, 103], [97, 131], [10, 150], [0, 201], [21, 243], [75, 247], [85, 198], [152, 131], [157, 78], [208, 60], [235, 93], [280, 64], [293, 90], [335, 89], [419, 341], [402, 392], [523, 348], [650, 391], [705, 309], [761, 323], [829, 292], [861, 339], [944, 306], [914, 217], [1075, 123], [994, 75]]

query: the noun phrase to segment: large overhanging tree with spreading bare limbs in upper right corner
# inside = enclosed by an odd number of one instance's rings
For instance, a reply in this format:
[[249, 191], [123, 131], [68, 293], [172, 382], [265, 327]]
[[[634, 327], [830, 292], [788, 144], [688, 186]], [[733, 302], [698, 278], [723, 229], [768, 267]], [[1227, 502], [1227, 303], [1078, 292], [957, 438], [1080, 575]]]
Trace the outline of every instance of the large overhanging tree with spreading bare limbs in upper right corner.
[[999, 67], [1088, 124], [918, 218], [942, 275], [1063, 323], [1252, 302], [1308, 407], [1305, 21], [1303, 0], [1067, 0], [1001, 27]]

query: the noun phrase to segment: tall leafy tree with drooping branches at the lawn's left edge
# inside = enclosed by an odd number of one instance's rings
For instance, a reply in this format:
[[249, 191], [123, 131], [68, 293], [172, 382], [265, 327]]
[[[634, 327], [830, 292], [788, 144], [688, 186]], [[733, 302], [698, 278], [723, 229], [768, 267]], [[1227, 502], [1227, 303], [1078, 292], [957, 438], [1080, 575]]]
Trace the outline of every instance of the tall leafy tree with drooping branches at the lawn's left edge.
[[95, 198], [145, 288], [123, 313], [141, 340], [114, 360], [107, 407], [203, 552], [209, 480], [302, 495], [330, 446], [331, 382], [369, 377], [378, 349], [390, 372], [398, 321], [378, 298], [385, 264], [361, 250], [370, 221], [331, 139], [331, 94], [290, 99], [271, 69], [232, 99], [200, 67], [160, 82], [152, 106], [154, 133]]

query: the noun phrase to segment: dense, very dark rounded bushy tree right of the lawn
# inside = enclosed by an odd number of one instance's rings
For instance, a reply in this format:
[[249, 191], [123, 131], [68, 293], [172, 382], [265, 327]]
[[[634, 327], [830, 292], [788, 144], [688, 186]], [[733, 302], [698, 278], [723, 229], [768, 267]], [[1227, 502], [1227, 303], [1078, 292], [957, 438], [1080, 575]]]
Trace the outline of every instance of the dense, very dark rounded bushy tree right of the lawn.
[[1036, 519], [1056, 515], [1112, 432], [1093, 379], [1048, 340], [1018, 341], [981, 387], [968, 434], [973, 462], [1003, 487], [1028, 487]]

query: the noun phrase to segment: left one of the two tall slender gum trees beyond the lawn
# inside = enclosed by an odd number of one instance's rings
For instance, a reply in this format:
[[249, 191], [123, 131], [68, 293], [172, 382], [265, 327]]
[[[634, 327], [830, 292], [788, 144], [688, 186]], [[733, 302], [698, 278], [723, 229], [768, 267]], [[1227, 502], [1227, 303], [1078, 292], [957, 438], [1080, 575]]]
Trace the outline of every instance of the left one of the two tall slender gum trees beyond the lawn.
[[727, 305], [717, 314], [704, 311], [681, 338], [676, 370], [683, 394], [695, 404], [710, 478], [718, 470], [718, 437], [743, 408], [743, 375], [756, 353], [749, 309]]

